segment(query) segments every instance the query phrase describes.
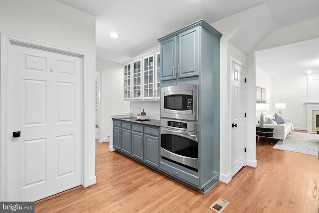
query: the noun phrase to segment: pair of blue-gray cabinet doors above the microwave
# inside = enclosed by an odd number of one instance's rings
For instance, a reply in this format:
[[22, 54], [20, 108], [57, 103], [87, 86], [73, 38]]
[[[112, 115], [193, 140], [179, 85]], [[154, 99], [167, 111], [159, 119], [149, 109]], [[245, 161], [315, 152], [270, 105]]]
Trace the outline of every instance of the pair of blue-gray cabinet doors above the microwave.
[[199, 27], [159, 39], [161, 81], [199, 76]]

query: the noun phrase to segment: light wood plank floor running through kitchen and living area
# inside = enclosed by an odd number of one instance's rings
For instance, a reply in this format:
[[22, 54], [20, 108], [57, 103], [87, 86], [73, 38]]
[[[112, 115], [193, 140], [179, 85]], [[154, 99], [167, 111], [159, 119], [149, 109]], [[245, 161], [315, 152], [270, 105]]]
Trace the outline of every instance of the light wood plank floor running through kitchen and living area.
[[97, 184], [77, 187], [37, 201], [36, 213], [214, 213], [223, 198], [223, 213], [319, 213], [318, 156], [256, 144], [257, 168], [244, 167], [226, 185], [205, 195], [195, 192], [117, 152], [96, 143]]

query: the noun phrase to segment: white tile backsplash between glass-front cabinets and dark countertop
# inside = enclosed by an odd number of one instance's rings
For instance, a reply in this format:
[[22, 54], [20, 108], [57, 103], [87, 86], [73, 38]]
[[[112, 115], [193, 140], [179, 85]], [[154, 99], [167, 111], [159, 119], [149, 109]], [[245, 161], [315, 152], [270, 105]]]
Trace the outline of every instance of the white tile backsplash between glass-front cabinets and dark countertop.
[[131, 112], [133, 116], [143, 111], [150, 119], [160, 119], [160, 101], [131, 101]]

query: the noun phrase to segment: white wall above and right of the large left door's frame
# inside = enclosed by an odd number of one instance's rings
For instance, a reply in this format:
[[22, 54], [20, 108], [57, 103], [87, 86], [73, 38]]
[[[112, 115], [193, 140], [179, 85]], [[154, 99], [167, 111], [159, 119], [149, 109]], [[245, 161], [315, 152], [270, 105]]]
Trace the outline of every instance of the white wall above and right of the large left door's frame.
[[89, 129], [84, 140], [89, 145], [84, 163], [89, 174], [84, 179], [86, 185], [95, 183], [95, 17], [55, 0], [0, 0], [0, 20], [1, 32], [87, 53]]

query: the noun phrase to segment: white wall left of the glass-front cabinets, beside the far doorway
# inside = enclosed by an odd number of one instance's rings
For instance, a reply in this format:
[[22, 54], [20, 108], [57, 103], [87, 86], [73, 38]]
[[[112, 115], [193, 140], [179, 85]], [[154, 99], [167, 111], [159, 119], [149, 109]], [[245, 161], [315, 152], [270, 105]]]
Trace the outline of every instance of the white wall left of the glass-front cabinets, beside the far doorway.
[[101, 70], [101, 123], [102, 141], [109, 141], [107, 135], [113, 131], [110, 113], [130, 112], [130, 102], [124, 101], [124, 67], [122, 64], [96, 59], [96, 69]]

